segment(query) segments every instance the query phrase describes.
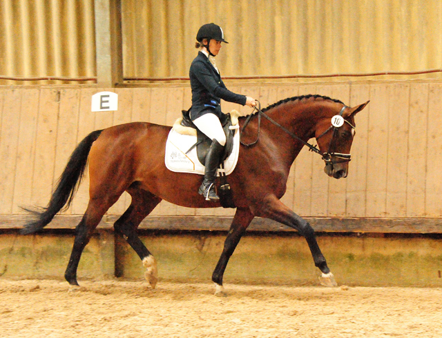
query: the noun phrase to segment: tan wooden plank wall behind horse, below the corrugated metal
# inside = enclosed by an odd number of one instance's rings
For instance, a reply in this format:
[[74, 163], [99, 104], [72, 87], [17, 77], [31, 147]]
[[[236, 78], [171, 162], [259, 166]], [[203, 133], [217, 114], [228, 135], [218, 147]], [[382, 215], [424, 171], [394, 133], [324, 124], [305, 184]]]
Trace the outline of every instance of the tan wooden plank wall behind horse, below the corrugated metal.
[[[280, 99], [320, 94], [349, 106], [370, 100], [356, 115], [356, 136], [347, 179], [331, 179], [320, 156], [304, 148], [291, 168], [282, 202], [304, 217], [442, 218], [442, 84], [439, 81], [374, 83], [265, 83], [228, 86], [255, 97], [265, 108]], [[55, 182], [77, 144], [93, 130], [129, 121], [171, 125], [189, 108], [189, 86], [113, 89], [117, 112], [91, 112], [99, 88], [0, 90], [0, 214], [20, 206], [46, 206]], [[251, 108], [223, 103], [223, 110]], [[315, 143], [310, 140], [310, 143]], [[88, 177], [65, 213], [82, 215]], [[121, 215], [125, 194], [108, 210]], [[163, 201], [152, 215], [231, 216], [223, 208], [195, 210]]]

